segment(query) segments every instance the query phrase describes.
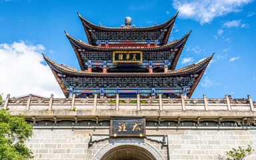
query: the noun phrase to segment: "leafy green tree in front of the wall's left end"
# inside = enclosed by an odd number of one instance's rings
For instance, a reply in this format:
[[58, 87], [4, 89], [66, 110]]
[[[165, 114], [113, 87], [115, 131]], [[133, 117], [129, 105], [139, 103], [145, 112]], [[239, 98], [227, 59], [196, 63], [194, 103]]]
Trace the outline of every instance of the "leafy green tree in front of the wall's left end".
[[33, 158], [25, 141], [33, 135], [32, 125], [23, 115], [12, 116], [5, 109], [0, 111], [0, 159], [25, 160]]

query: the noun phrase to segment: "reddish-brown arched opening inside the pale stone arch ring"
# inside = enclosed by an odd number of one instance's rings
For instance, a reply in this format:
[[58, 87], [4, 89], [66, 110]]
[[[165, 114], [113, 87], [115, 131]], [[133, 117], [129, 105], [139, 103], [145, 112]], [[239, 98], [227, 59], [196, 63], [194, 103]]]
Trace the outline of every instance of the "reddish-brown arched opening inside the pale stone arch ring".
[[121, 145], [109, 150], [101, 160], [156, 160], [149, 151], [136, 145]]

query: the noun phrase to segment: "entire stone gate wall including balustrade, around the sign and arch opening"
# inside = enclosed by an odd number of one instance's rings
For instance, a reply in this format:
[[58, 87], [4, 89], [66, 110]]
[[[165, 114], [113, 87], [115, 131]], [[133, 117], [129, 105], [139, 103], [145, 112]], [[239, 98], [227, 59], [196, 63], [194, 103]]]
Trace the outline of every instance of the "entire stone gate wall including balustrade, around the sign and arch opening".
[[[225, 151], [251, 145], [256, 149], [256, 102], [248, 99], [15, 99], [4, 105], [11, 115], [23, 114], [34, 124], [27, 141], [34, 159], [99, 160], [107, 149], [133, 145], [160, 159], [216, 159]], [[137, 99], [139, 101], [139, 99]], [[145, 117], [145, 137], [109, 136], [111, 117]], [[117, 144], [118, 141], [118, 144]], [[108, 148], [109, 147], [109, 148]], [[255, 153], [247, 157], [256, 159]]]

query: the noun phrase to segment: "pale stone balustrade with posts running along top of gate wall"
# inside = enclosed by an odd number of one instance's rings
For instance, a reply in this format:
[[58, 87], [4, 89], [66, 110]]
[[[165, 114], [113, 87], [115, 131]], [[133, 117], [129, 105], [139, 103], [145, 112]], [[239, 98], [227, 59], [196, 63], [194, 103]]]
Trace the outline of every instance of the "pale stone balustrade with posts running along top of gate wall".
[[3, 105], [10, 110], [160, 110], [160, 111], [256, 111], [256, 102], [252, 101], [251, 95], [247, 99], [230, 99], [225, 95], [224, 99], [122, 99], [117, 96], [115, 99], [107, 98], [53, 98], [51, 95], [47, 99], [33, 98], [31, 95], [27, 99], [15, 99], [7, 96]]

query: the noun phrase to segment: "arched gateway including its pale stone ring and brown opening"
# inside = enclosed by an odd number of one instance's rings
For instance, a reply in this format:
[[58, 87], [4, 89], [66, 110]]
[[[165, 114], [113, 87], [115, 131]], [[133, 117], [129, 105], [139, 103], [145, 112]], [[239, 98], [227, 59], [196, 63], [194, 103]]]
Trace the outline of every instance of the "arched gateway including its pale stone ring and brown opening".
[[109, 141], [93, 160], [163, 160], [162, 155], [143, 139], [123, 138]]

